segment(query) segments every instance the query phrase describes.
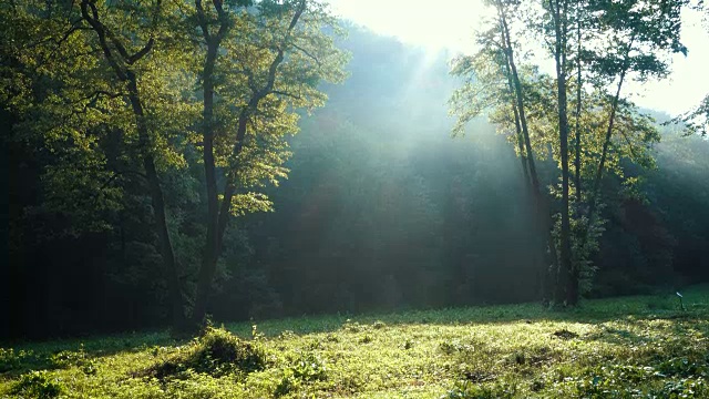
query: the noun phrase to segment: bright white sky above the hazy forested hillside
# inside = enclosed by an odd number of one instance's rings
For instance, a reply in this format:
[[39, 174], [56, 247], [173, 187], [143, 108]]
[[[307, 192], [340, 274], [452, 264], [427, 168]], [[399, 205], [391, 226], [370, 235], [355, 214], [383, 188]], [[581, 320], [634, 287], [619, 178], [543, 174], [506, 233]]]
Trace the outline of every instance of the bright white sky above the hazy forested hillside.
[[[333, 11], [372, 31], [393, 35], [402, 42], [436, 51], [449, 48], [465, 52], [471, 48], [472, 34], [491, 11], [480, 0], [330, 0]], [[685, 112], [699, 104], [709, 93], [709, 33], [702, 28], [698, 12], [684, 16], [682, 43], [689, 54], [676, 55], [672, 74], [661, 82], [628, 86], [626, 95], [641, 106]]]

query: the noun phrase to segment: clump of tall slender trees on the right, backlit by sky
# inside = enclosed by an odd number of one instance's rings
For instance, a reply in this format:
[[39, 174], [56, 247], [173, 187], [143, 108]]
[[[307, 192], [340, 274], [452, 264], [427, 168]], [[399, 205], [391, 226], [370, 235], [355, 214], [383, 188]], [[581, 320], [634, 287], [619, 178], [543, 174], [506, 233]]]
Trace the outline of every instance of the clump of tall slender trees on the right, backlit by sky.
[[[528, 20], [523, 29], [527, 33], [537, 31], [546, 38], [555, 64], [553, 81], [528, 68], [525, 81], [515, 62], [515, 47], [520, 44], [511, 39], [510, 10], [517, 10], [514, 13], [520, 14], [518, 10], [526, 8], [532, 12], [524, 13], [533, 14], [533, 4], [494, 1], [490, 6], [495, 8], [497, 17], [495, 24], [479, 35], [482, 50], [454, 63], [453, 73], [475, 76], [453, 96], [453, 112], [460, 116], [455, 131], [462, 131], [465, 123], [484, 109], [495, 108], [501, 115], [495, 122], [517, 132], [517, 152], [525, 175], [531, 180], [540, 215], [548, 214], [549, 207], [540, 188], [535, 151], [543, 155], [548, 149], [558, 160], [559, 188], [553, 192], [561, 203], [559, 226], [552, 228], [551, 223], [544, 222], [542, 225], [545, 232], [558, 234], [557, 238], [551, 236], [548, 239], [553, 265], [557, 260], [556, 246], [559, 248], [558, 267], [554, 267], [557, 274], [555, 301], [575, 305], [579, 298], [583, 265], [588, 265], [588, 256], [595, 247], [592, 237], [597, 237], [600, 228], [595, 213], [600, 182], [614, 146], [612, 136], [621, 135], [614, 147], [617, 151], [613, 155], [614, 173], [621, 173], [620, 154], [649, 165], [645, 149], [657, 137], [655, 131], [646, 129], [634, 105], [623, 100], [620, 89], [629, 75], [639, 80], [664, 76], [667, 73], [665, 54], [685, 51], [678, 40], [682, 2], [543, 2], [543, 18]], [[614, 93], [604, 94], [612, 83], [616, 83]], [[574, 91], [575, 95], [569, 94]], [[568, 109], [574, 105], [575, 134], [573, 145], [569, 145]], [[615, 126], [619, 108], [627, 112], [623, 127]], [[599, 120], [604, 113], [605, 122]], [[605, 125], [605, 134], [597, 140], [602, 125]], [[626, 140], [637, 137], [636, 133], [643, 139]], [[584, 192], [582, 185], [590, 188]], [[584, 203], [587, 203], [585, 213]], [[546, 219], [547, 216], [541, 218]]]

